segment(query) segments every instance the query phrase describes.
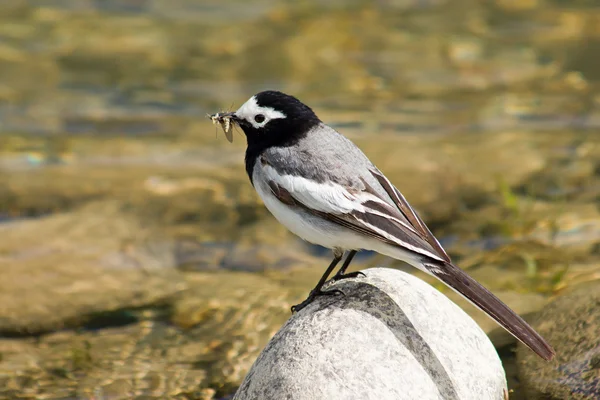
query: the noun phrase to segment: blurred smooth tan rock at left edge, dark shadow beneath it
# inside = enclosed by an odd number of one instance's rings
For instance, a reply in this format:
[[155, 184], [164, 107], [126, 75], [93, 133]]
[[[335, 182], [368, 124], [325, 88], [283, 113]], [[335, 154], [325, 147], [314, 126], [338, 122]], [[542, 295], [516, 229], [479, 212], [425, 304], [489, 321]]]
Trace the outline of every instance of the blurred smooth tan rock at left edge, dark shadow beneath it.
[[0, 333], [39, 334], [164, 304], [186, 289], [172, 246], [113, 203], [0, 225]]

